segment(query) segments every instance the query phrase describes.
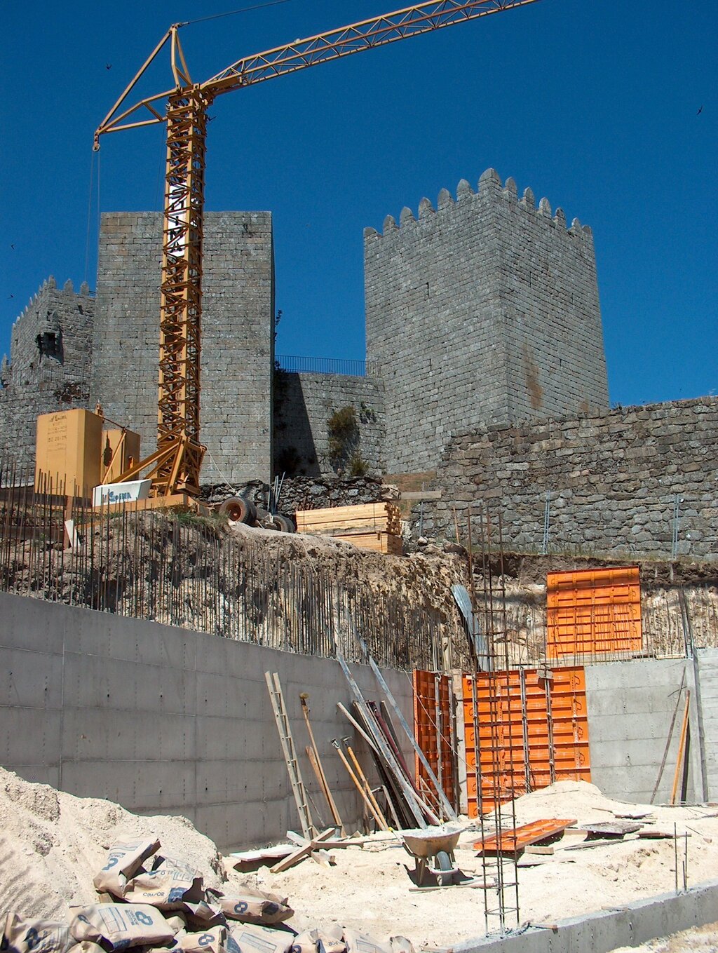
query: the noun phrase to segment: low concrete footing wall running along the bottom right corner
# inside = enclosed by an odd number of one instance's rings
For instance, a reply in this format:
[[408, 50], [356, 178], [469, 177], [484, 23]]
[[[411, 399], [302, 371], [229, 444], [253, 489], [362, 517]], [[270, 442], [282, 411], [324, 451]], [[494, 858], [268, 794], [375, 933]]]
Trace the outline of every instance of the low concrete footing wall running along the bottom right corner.
[[561, 920], [556, 929], [529, 928], [520, 934], [457, 943], [451, 949], [452, 953], [609, 953], [714, 923], [716, 910], [718, 881], [707, 881], [685, 893], [662, 894], [620, 909]]

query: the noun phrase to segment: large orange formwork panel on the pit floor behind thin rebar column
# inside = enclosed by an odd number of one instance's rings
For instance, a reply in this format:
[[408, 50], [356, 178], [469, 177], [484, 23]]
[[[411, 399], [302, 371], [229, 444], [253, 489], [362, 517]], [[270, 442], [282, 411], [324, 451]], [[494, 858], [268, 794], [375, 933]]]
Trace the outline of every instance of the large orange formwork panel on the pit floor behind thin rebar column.
[[550, 679], [516, 669], [462, 683], [470, 817], [553, 781], [591, 780], [582, 666]]

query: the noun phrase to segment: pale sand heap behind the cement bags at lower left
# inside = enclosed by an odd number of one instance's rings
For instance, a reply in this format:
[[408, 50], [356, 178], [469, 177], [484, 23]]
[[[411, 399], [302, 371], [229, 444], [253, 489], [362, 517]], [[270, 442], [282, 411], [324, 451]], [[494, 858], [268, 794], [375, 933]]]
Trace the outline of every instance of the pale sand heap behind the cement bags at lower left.
[[75, 798], [0, 768], [0, 913], [68, 920], [97, 899], [92, 878], [114, 841], [155, 837], [208, 886], [226, 879], [215, 844], [181, 817], [138, 817], [112, 801]]

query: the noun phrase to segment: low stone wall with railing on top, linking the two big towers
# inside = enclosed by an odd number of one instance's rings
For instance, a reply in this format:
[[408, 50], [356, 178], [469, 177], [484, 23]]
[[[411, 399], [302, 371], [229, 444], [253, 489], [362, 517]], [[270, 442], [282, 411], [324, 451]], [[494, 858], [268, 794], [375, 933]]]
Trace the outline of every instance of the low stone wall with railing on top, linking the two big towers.
[[353, 406], [359, 424], [359, 456], [372, 473], [383, 469], [384, 394], [374, 377], [277, 371], [275, 471], [290, 476], [336, 476], [328, 458], [328, 420]]

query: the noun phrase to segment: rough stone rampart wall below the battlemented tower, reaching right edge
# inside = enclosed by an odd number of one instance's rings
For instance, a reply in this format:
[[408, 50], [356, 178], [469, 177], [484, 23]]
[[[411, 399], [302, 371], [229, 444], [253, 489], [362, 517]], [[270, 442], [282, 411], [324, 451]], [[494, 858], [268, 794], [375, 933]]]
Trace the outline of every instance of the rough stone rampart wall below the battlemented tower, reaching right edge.
[[481, 501], [501, 511], [506, 550], [539, 552], [546, 495], [548, 551], [620, 558], [718, 559], [718, 397], [603, 415], [497, 425], [456, 436], [424, 503], [425, 536], [454, 535]]

